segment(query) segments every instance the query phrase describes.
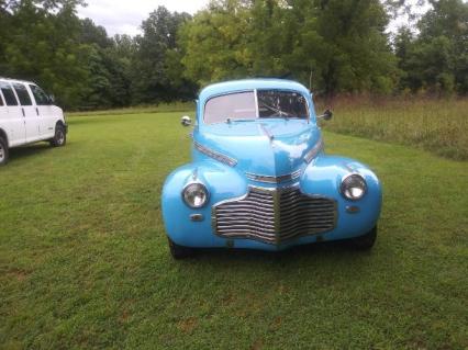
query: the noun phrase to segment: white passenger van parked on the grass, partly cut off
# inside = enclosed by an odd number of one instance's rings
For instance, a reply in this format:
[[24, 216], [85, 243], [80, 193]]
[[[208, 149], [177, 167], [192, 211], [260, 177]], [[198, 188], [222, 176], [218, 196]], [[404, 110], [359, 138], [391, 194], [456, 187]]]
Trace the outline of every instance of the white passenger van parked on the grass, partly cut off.
[[9, 148], [41, 140], [65, 145], [64, 112], [34, 82], [0, 77], [0, 166], [7, 163]]

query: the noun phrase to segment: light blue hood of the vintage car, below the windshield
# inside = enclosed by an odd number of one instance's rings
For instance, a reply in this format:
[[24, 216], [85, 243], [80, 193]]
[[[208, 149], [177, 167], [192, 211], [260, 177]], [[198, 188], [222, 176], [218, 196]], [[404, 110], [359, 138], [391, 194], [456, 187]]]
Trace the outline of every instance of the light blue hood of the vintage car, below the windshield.
[[214, 124], [196, 131], [196, 143], [237, 161], [259, 176], [290, 174], [320, 142], [320, 129], [303, 120], [266, 120]]

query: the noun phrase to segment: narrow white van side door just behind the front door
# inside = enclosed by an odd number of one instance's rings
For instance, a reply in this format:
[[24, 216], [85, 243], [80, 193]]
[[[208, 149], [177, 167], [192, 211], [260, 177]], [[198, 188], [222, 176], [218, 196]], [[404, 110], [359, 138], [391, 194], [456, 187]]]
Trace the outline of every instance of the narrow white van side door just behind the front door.
[[20, 100], [21, 112], [26, 122], [26, 143], [38, 140], [41, 139], [41, 120], [33, 105], [31, 94], [24, 83], [13, 82], [12, 84], [18, 100]]

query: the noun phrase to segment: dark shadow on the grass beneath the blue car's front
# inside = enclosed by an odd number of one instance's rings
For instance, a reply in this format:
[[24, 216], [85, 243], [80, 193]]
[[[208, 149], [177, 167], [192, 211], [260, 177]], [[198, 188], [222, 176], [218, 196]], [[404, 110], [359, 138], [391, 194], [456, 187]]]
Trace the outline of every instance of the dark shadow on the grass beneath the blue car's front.
[[[389, 264], [398, 266], [394, 259], [382, 260], [379, 247], [363, 251], [353, 249], [344, 241], [311, 244], [277, 252], [200, 249], [196, 256], [185, 260], [172, 260], [170, 257], [167, 259], [179, 267], [177, 279], [181, 280], [197, 276], [198, 280], [209, 283], [210, 279], [207, 276], [226, 274], [232, 281], [249, 281], [248, 283], [288, 281], [287, 283], [296, 285], [294, 289], [298, 290], [304, 281], [315, 281], [328, 286], [336, 284], [339, 287], [349, 279], [368, 283], [366, 281], [381, 278], [378, 271], [381, 271], [382, 267], [388, 269]], [[299, 280], [294, 280], [297, 278]]]

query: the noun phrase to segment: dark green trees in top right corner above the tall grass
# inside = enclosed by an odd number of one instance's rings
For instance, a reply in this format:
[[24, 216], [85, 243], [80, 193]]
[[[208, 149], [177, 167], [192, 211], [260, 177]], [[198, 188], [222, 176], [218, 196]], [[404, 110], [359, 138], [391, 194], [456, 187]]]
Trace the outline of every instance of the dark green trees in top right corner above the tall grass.
[[420, 35], [402, 29], [397, 57], [404, 72], [401, 88], [434, 93], [468, 92], [468, 3], [432, 1], [419, 22]]

